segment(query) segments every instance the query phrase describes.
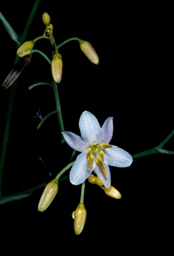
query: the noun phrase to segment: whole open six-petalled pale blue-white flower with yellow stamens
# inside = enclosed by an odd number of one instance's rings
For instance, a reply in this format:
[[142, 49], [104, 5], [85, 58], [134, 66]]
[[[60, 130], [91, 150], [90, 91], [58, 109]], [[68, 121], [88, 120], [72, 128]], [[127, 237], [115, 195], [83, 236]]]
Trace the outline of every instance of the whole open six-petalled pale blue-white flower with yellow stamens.
[[109, 144], [114, 131], [113, 117], [108, 117], [100, 127], [98, 119], [92, 113], [84, 111], [80, 116], [79, 128], [81, 137], [70, 131], [62, 133], [72, 149], [82, 152], [72, 166], [70, 182], [79, 185], [94, 171], [106, 189], [109, 189], [109, 165], [128, 167], [133, 161], [130, 153]]

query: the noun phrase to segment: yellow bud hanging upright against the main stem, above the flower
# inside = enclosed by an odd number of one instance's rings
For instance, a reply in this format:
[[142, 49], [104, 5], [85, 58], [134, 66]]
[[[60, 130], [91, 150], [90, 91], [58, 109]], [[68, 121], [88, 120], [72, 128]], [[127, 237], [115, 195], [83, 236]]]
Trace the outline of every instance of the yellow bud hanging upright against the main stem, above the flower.
[[51, 61], [51, 72], [56, 83], [60, 83], [62, 79], [62, 66], [62, 56], [59, 53], [54, 54]]

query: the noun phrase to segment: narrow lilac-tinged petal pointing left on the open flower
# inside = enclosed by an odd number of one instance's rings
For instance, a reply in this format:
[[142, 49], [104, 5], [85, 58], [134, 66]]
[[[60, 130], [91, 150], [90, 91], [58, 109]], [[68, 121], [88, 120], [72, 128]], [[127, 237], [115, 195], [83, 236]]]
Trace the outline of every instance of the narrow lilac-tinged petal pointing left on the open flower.
[[71, 131], [64, 131], [62, 135], [66, 143], [68, 143], [68, 145], [72, 147], [72, 149], [75, 149], [76, 151], [79, 151], [79, 152], [82, 152], [88, 149], [88, 145], [82, 139], [82, 137], [76, 135], [75, 133], [72, 133]]

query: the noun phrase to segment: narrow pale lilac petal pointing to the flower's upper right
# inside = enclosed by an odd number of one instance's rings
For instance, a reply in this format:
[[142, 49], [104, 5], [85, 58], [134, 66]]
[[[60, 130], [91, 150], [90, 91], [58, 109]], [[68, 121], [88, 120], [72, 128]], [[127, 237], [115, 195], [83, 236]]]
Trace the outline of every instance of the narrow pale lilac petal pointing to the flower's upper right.
[[102, 136], [100, 143], [109, 144], [114, 131], [113, 117], [108, 117], [102, 125]]

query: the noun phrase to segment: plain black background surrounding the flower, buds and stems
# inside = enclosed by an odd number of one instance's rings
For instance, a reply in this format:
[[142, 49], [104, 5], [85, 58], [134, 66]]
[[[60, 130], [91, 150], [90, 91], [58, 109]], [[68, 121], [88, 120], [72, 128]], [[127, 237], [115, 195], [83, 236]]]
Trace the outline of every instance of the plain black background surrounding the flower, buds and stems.
[[[10, 9], [4, 3], [1, 12], [20, 35], [34, 1], [23, 5], [17, 2], [11, 3]], [[80, 51], [78, 41], [60, 47], [63, 73], [58, 93], [66, 131], [80, 135], [78, 120], [87, 110], [98, 118], [100, 125], [107, 117], [114, 117], [111, 143], [131, 155], [155, 147], [169, 135], [173, 130], [169, 9], [132, 3], [99, 6], [41, 1], [26, 41], [43, 34], [42, 16], [46, 11], [54, 26], [57, 45], [70, 37], [80, 37], [92, 43], [100, 58], [100, 65], [90, 63]], [[16, 43], [2, 23], [0, 31], [2, 84], [13, 68]], [[51, 58], [48, 41], [38, 41], [35, 49]], [[43, 116], [55, 109], [50, 87], [28, 91], [30, 85], [41, 81], [51, 83], [50, 66], [41, 55], [33, 53], [30, 65], [19, 77], [3, 195], [50, 181], [70, 159], [72, 149], [66, 143], [61, 145], [56, 115], [47, 119], [39, 131], [39, 119], [31, 117], [39, 108]], [[11, 88], [0, 90], [2, 144]], [[173, 138], [165, 148], [173, 150]], [[54, 250], [58, 253], [66, 251], [68, 245], [72, 245], [72, 253], [78, 253], [82, 246], [98, 253], [120, 251], [118, 255], [124, 255], [126, 250], [141, 255], [150, 248], [161, 249], [171, 225], [171, 201], [168, 203], [167, 199], [171, 193], [173, 156], [149, 155], [135, 159], [131, 167], [110, 169], [112, 185], [122, 193], [122, 199], [112, 199], [86, 181], [87, 219], [80, 236], [74, 234], [71, 214], [80, 201], [81, 186], [73, 186], [66, 180], [59, 183], [58, 194], [44, 213], [37, 211], [43, 189], [26, 199], [1, 205], [1, 239], [14, 242], [13, 249], [20, 251], [21, 245], [25, 245], [34, 252], [49, 249], [50, 253]]]

